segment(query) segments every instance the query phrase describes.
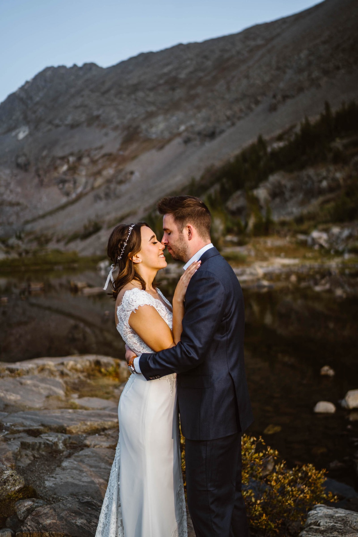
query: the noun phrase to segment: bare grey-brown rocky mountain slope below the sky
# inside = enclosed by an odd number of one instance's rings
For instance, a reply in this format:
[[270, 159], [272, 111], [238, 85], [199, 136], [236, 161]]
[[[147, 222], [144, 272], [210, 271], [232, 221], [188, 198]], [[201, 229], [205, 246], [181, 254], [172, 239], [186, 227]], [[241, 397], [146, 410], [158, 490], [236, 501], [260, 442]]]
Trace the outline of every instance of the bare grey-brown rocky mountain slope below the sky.
[[358, 5], [313, 8], [113, 67], [46, 68], [0, 105], [3, 242], [103, 253], [212, 164], [358, 97]]

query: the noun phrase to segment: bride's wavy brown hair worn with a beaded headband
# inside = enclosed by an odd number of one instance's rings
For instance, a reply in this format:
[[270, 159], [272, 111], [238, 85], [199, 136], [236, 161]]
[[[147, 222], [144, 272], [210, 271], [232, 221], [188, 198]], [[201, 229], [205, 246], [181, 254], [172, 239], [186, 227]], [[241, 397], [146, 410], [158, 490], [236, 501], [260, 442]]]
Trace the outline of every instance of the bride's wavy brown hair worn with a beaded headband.
[[[128, 237], [129, 228], [131, 226], [133, 226], [133, 229]], [[122, 287], [128, 284], [131, 280], [139, 281], [143, 291], [145, 291], [145, 281], [136, 271], [136, 264], [131, 260], [131, 258], [135, 256], [136, 253], [138, 253], [141, 249], [141, 228], [143, 226], [147, 226], [149, 228], [148, 224], [145, 222], [138, 222], [134, 225], [119, 224], [119, 226], [116, 226], [113, 229], [111, 235], [109, 235], [107, 255], [109, 259], [111, 259], [112, 263], [116, 265], [115, 268], [118, 269], [118, 274], [116, 276], [113, 275], [114, 282], [111, 282], [114, 299], [116, 299]], [[127, 244], [122, 252], [126, 241]], [[118, 259], [119, 257], [121, 258]], [[156, 288], [155, 281], [152, 285], [154, 288]]]

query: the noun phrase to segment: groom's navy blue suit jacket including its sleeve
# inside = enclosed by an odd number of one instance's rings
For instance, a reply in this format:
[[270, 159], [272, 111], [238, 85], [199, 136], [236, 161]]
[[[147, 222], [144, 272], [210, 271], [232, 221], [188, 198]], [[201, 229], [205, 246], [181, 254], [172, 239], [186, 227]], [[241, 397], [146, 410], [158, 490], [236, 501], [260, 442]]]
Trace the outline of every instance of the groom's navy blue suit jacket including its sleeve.
[[216, 248], [201, 256], [189, 282], [181, 340], [144, 353], [147, 380], [178, 373], [181, 430], [190, 440], [229, 436], [252, 423], [244, 364], [244, 297], [231, 266]]

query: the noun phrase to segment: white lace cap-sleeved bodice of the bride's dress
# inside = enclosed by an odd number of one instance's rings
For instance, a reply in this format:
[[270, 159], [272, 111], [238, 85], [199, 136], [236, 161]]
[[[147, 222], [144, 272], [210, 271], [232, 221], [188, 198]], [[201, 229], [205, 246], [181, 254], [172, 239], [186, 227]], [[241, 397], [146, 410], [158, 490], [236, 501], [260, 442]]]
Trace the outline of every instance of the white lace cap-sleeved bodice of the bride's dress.
[[[165, 296], [159, 291], [159, 289], [158, 293], [170, 308], [170, 302], [166, 300]], [[147, 291], [143, 291], [143, 289], [138, 289], [137, 287], [134, 289], [127, 289], [122, 297], [122, 302], [119, 304], [119, 306], [117, 306], [117, 330], [119, 331], [123, 340], [136, 354], [141, 354], [142, 352], [153, 352], [152, 349], [150, 349], [150, 347], [144, 343], [144, 341], [133, 329], [130, 328], [128, 324], [130, 314], [140, 306], [145, 305], [154, 307], [170, 329], [172, 329], [173, 325], [172, 311], [164, 306], [161, 300], [155, 299], [154, 296], [147, 293]]]

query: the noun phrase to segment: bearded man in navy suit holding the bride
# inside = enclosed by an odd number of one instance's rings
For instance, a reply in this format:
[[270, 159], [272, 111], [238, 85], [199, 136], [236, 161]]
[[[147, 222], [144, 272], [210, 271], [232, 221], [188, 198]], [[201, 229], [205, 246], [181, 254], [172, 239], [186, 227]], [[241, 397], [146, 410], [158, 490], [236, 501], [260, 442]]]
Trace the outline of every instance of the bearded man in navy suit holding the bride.
[[159, 201], [173, 259], [201, 266], [189, 282], [181, 340], [127, 361], [147, 380], [178, 373], [188, 509], [196, 537], [247, 537], [241, 434], [252, 422], [244, 365], [244, 299], [230, 265], [210, 242], [209, 209], [192, 196]]

